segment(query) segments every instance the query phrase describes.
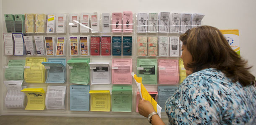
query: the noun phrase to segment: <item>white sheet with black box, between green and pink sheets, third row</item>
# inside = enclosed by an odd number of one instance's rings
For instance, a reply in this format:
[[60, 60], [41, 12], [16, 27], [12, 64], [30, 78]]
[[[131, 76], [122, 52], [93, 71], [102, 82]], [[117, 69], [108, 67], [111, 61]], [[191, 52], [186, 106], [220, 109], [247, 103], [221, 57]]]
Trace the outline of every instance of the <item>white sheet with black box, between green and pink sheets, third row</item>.
[[91, 69], [91, 85], [94, 84], [110, 84], [110, 68], [109, 62], [90, 62]]

